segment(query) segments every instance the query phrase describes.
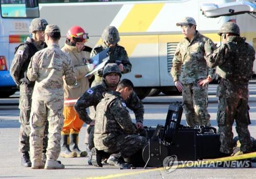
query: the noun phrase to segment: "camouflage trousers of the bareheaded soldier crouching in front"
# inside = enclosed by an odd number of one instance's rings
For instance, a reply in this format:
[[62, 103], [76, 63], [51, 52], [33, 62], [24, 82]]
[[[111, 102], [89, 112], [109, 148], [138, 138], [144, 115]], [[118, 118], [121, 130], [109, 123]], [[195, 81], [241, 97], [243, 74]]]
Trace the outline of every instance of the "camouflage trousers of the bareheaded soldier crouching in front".
[[139, 135], [119, 135], [109, 142], [109, 144], [105, 144], [107, 147], [110, 146], [104, 150], [105, 152], [120, 152], [123, 158], [128, 158], [144, 147], [147, 143], [147, 138]]

